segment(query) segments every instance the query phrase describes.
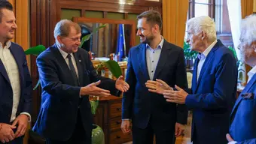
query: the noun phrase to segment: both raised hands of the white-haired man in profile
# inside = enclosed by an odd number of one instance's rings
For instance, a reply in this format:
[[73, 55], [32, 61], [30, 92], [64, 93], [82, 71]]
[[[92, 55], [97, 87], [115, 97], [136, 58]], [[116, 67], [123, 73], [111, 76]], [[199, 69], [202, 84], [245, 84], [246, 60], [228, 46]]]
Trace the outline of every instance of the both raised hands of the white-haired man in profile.
[[181, 89], [176, 85], [176, 91], [174, 91], [173, 88], [169, 86], [167, 83], [165, 83], [163, 80], [159, 79], [157, 79], [156, 81], [148, 80], [147, 83], [145, 83], [145, 85], [148, 88], [149, 92], [154, 92], [163, 95], [163, 98], [166, 98], [166, 101], [168, 102], [185, 104], [185, 100], [188, 94], [184, 91], [184, 89]]

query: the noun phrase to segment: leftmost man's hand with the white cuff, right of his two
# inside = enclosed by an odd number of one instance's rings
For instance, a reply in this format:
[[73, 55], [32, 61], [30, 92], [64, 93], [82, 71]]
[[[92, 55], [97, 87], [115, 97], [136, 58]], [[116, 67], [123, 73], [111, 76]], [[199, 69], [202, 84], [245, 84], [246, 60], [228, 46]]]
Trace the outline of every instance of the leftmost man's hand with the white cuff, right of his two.
[[21, 114], [19, 115], [13, 122], [13, 126], [17, 125], [17, 131], [15, 133], [15, 137], [23, 136], [26, 132], [26, 127], [28, 126], [28, 115]]

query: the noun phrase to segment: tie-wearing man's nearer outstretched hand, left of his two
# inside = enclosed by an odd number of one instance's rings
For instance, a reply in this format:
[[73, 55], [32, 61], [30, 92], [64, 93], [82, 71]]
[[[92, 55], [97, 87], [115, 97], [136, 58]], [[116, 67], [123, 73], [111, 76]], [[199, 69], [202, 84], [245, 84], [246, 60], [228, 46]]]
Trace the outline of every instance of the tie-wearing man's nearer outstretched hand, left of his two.
[[81, 96], [84, 95], [95, 95], [99, 97], [107, 97], [110, 95], [110, 92], [105, 89], [100, 89], [97, 87], [100, 83], [100, 80], [96, 83], [91, 83], [90, 85], [84, 86], [81, 88]]

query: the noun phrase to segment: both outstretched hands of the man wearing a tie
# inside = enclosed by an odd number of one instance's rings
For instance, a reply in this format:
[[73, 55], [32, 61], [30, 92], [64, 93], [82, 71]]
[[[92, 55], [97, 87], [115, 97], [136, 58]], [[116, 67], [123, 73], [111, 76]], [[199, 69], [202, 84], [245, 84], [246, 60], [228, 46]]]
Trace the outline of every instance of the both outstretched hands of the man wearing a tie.
[[[101, 89], [97, 87], [101, 81], [97, 81], [96, 83], [90, 83], [90, 85], [84, 86], [81, 88], [81, 96], [83, 95], [96, 95], [99, 97], [107, 97], [110, 95], [110, 91], [106, 89]], [[120, 92], [126, 92], [130, 88], [128, 83], [123, 80], [123, 76], [118, 77], [115, 82], [115, 88]]]

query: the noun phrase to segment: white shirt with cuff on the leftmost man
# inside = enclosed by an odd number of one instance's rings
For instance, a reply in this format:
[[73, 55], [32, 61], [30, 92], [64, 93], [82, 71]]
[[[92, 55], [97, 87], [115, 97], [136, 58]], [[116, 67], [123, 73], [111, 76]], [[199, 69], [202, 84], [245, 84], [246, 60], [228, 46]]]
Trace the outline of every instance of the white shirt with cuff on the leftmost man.
[[[11, 41], [8, 41], [5, 47], [3, 47], [2, 43], [0, 43], [0, 59], [5, 66], [5, 71], [8, 74], [8, 78], [11, 83], [11, 89], [13, 90], [13, 107], [10, 121], [14, 121], [20, 103], [20, 72], [14, 55], [11, 54], [10, 46]], [[29, 113], [20, 114], [28, 115], [29, 121], [31, 121], [31, 115]]]

